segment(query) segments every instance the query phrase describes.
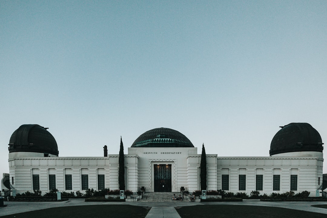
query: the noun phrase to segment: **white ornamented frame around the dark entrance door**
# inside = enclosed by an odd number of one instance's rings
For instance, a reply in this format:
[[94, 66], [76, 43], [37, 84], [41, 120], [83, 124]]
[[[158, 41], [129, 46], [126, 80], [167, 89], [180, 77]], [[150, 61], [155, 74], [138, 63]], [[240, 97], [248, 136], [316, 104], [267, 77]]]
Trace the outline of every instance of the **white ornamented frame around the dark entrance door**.
[[148, 172], [151, 179], [149, 179], [149, 191], [154, 192], [154, 165], [157, 164], [171, 164], [171, 191], [177, 191], [177, 159], [149, 159]]

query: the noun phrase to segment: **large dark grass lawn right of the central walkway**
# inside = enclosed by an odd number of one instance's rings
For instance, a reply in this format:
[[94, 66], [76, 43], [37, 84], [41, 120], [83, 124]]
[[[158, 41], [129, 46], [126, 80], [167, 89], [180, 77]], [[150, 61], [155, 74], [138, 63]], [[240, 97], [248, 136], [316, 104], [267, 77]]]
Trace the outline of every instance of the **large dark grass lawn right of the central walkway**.
[[242, 217], [242, 218], [326, 218], [326, 214], [292, 210], [286, 208], [246, 206], [246, 205], [195, 205], [189, 207], [178, 207], [177, 212], [181, 218], [201, 217]]

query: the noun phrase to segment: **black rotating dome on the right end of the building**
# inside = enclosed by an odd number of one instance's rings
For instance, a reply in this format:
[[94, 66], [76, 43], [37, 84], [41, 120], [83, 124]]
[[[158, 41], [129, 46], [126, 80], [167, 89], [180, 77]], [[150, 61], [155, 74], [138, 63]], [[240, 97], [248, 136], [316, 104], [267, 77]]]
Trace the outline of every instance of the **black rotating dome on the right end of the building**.
[[270, 144], [270, 156], [287, 152], [322, 152], [320, 134], [308, 123], [290, 123], [279, 130]]

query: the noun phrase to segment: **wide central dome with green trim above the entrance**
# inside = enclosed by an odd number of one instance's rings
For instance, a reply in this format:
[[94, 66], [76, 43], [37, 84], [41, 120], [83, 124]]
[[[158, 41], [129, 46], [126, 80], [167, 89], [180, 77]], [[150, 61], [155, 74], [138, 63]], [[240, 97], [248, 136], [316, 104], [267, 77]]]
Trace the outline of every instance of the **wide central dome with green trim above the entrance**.
[[140, 135], [131, 147], [194, 147], [191, 141], [179, 131], [156, 128]]

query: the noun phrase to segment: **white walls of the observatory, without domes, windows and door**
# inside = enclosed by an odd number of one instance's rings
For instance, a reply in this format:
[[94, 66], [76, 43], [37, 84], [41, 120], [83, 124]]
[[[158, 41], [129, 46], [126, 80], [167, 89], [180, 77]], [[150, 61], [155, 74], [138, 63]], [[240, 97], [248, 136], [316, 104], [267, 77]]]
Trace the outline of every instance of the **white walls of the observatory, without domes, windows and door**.
[[[199, 167], [201, 155], [197, 148], [128, 148], [125, 155], [126, 188], [133, 192], [140, 187], [154, 191], [153, 169], [157, 164], [171, 164], [172, 192], [185, 187], [188, 191], [200, 189]], [[256, 174], [263, 175], [263, 190], [260, 193], [284, 193], [290, 191], [290, 175], [298, 175], [297, 192], [309, 191], [311, 196], [322, 184], [322, 153], [296, 152], [288, 156], [272, 157], [217, 157], [207, 154], [207, 190], [222, 189], [221, 175], [228, 172], [227, 192], [246, 192], [250, 195], [256, 189]], [[16, 154], [9, 158], [10, 183], [17, 193], [33, 191], [32, 175], [37, 172], [40, 190], [49, 192], [49, 174], [56, 175], [56, 188], [59, 191], [81, 190], [81, 175], [88, 175], [88, 188], [98, 190], [97, 175], [105, 175], [105, 188], [118, 189], [119, 155], [108, 157], [26, 157]], [[65, 172], [72, 175], [72, 190], [65, 190]], [[274, 173], [275, 172], [275, 173]], [[280, 190], [273, 190], [273, 175], [280, 175]], [[239, 190], [239, 175], [246, 175], [246, 190]], [[320, 184], [319, 184], [320, 177]]]

